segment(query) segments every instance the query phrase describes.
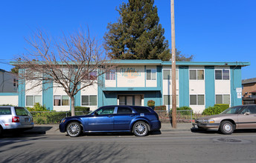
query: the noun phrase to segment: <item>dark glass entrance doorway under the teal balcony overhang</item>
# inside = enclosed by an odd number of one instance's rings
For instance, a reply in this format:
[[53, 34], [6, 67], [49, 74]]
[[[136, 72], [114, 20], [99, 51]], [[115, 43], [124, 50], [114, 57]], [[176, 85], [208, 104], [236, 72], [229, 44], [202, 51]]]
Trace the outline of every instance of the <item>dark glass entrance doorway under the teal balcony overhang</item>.
[[143, 106], [143, 95], [118, 95], [118, 105], [135, 105]]

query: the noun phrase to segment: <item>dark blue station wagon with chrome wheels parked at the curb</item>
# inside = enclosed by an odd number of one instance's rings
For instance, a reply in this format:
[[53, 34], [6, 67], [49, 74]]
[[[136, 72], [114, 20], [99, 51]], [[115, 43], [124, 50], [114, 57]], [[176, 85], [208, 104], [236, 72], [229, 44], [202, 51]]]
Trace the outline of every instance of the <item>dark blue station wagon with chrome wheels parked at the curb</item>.
[[146, 136], [149, 131], [159, 130], [159, 116], [150, 107], [104, 106], [86, 116], [71, 116], [61, 120], [60, 132], [79, 136], [93, 132], [131, 132]]

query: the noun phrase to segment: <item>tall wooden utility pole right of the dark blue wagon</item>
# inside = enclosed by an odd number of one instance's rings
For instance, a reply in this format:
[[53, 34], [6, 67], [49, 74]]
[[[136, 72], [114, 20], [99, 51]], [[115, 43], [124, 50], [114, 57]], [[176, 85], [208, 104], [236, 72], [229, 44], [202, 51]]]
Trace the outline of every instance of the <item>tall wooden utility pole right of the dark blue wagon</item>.
[[172, 36], [172, 121], [176, 128], [176, 47], [175, 47], [175, 23], [174, 23], [174, 0], [170, 0], [170, 22]]

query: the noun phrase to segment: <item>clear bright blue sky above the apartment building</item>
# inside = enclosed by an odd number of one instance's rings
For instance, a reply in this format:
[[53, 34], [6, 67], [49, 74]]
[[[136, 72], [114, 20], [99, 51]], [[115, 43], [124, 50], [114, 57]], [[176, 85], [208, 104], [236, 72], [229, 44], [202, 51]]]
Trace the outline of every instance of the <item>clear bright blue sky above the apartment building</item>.
[[[25, 37], [41, 28], [51, 35], [89, 26], [102, 39], [109, 22], [116, 22], [121, 0], [10, 0], [0, 4], [0, 68], [25, 53]], [[127, 2], [127, 0], [124, 0]], [[170, 45], [170, 0], [155, 0]], [[242, 79], [256, 77], [256, 1], [175, 1], [176, 48], [193, 61], [250, 61]]]

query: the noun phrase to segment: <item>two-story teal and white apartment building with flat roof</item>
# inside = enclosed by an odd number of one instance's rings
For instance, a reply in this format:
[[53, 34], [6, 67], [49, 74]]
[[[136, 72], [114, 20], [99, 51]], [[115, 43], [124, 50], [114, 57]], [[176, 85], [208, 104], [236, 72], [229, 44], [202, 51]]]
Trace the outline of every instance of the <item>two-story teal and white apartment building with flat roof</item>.
[[[95, 110], [103, 105], [147, 106], [149, 100], [156, 106], [172, 107], [171, 62], [161, 60], [115, 60], [118, 67], [100, 76], [101, 84], [81, 90], [75, 96], [75, 106]], [[12, 64], [15, 65], [15, 62]], [[176, 62], [177, 107], [188, 106], [196, 113], [214, 104], [242, 104], [241, 68], [249, 62]], [[22, 70], [20, 70], [22, 72]], [[19, 84], [19, 106], [31, 107], [35, 102], [50, 110], [70, 110], [70, 99], [63, 89], [41, 91], [33, 83]], [[54, 85], [54, 84], [52, 84]]]

